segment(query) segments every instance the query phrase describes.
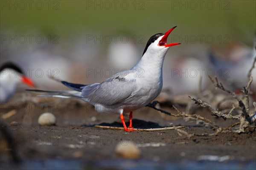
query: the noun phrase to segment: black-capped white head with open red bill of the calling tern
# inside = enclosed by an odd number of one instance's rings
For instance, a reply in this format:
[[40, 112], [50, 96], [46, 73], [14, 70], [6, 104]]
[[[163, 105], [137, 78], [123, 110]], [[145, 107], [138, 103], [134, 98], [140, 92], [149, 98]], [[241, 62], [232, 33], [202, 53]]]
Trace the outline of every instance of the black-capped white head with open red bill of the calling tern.
[[143, 52], [143, 56], [164, 57], [169, 47], [179, 45], [180, 43], [167, 44], [167, 38], [174, 28], [176, 28], [176, 26], [166, 33], [158, 33], [150, 37]]

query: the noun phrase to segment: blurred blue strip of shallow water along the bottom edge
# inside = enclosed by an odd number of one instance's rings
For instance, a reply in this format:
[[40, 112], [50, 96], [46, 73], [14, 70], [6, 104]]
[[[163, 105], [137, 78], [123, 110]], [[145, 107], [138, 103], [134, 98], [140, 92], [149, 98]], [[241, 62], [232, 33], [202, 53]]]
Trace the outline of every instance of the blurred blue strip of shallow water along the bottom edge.
[[256, 161], [183, 161], [183, 162], [153, 162], [148, 160], [104, 160], [86, 162], [81, 160], [49, 159], [45, 161], [25, 161], [19, 166], [0, 165], [0, 169], [21, 170], [84, 170], [84, 169], [150, 169], [150, 170], [255, 170]]

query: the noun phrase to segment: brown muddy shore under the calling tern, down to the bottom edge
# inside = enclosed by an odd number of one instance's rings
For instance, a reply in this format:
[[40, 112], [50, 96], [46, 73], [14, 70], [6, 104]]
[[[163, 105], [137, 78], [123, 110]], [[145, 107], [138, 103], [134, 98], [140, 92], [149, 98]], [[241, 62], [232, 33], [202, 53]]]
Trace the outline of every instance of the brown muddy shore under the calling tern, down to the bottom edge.
[[[1, 169], [255, 169], [256, 131], [220, 133], [217, 136], [194, 136], [187, 139], [175, 130], [133, 131], [96, 128], [94, 125], [122, 127], [119, 115], [100, 114], [91, 105], [75, 99], [33, 98], [12, 99], [1, 105], [0, 116], [16, 110], [3, 120], [3, 127], [14, 137], [21, 164], [13, 163], [6, 137], [1, 133]], [[23, 102], [18, 102], [23, 101]], [[41, 103], [41, 104], [38, 104]], [[174, 110], [162, 106], [166, 111]], [[41, 113], [51, 112], [57, 118], [55, 126], [39, 126]], [[202, 115], [221, 126], [234, 121], [215, 118], [205, 109]], [[125, 116], [128, 125], [128, 116]], [[12, 124], [11, 122], [17, 122]], [[186, 125], [188, 133], [212, 133], [209, 127], [172, 118], [145, 107], [134, 112], [135, 128], [158, 128]], [[124, 159], [115, 153], [117, 144], [129, 142], [141, 150], [138, 159]]]

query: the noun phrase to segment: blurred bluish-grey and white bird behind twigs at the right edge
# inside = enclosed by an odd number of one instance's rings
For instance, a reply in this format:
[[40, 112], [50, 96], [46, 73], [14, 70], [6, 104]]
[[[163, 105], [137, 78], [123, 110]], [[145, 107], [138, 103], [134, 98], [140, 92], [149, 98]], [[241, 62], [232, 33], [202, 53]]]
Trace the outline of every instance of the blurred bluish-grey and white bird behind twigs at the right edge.
[[[253, 66], [256, 57], [255, 46], [253, 48], [233, 42], [224, 49], [212, 49], [209, 52], [209, 67], [215, 71], [215, 75], [225, 82], [231, 90], [240, 92], [248, 82], [248, 71]], [[254, 63], [255, 66], [255, 63]], [[253, 83], [251, 91], [256, 92], [256, 70], [252, 71]]]

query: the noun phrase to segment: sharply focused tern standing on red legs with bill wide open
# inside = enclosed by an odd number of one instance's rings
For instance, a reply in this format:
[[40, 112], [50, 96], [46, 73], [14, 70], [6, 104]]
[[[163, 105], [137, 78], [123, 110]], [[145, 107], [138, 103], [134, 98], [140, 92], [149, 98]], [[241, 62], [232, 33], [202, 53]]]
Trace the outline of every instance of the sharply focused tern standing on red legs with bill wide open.
[[[166, 33], [155, 34], [147, 42], [140, 61], [129, 70], [119, 72], [102, 83], [91, 85], [62, 83], [73, 91], [44, 91], [41, 96], [82, 99], [94, 105], [99, 113], [120, 114], [125, 131], [133, 131], [132, 112], [143, 108], [155, 99], [163, 87], [163, 60], [169, 47], [180, 43], [167, 44], [173, 27]], [[123, 114], [130, 113], [130, 125], [126, 127]]]

